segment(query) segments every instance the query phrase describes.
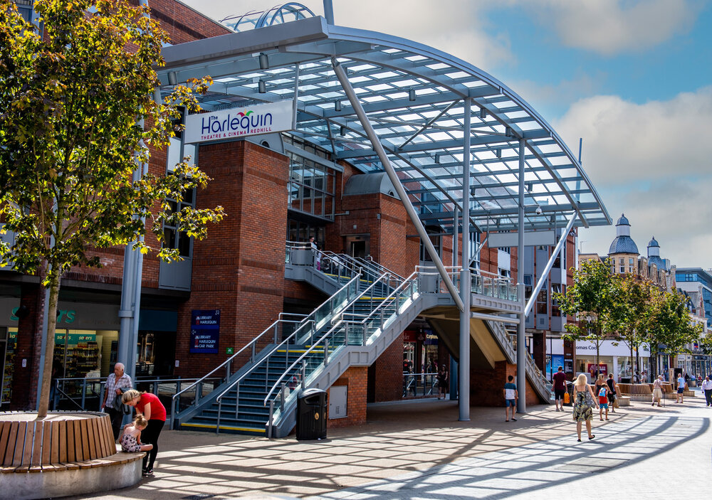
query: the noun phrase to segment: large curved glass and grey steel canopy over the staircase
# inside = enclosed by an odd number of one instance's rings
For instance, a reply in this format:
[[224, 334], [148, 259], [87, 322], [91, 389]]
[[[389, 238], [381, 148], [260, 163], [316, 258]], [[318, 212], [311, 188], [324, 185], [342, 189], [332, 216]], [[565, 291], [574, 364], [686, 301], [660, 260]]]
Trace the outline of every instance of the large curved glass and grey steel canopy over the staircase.
[[471, 196], [465, 194], [475, 230], [518, 228], [520, 139], [525, 230], [562, 227], [573, 212], [577, 225], [611, 223], [575, 156], [535, 110], [491, 75], [434, 48], [307, 17], [167, 47], [164, 58], [164, 92], [210, 75], [214, 85], [200, 97], [206, 110], [296, 97], [293, 134], [331, 151], [335, 161], [383, 171], [335, 76], [334, 58], [423, 223], [446, 232], [463, 203], [464, 99], [471, 98]]

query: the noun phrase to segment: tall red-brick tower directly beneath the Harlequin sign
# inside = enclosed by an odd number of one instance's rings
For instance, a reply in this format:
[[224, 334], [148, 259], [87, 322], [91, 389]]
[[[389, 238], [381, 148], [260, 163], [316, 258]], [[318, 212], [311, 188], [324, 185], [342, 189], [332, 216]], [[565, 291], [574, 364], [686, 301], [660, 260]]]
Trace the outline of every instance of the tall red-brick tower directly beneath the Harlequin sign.
[[[238, 351], [283, 309], [287, 207], [278, 201], [286, 191], [287, 157], [239, 141], [201, 146], [199, 163], [213, 181], [197, 206], [221, 205], [226, 217], [210, 238], [194, 243], [192, 292], [178, 310], [181, 376], [211, 370], [228, 357], [227, 347]], [[217, 354], [189, 353], [193, 309], [220, 309]]]

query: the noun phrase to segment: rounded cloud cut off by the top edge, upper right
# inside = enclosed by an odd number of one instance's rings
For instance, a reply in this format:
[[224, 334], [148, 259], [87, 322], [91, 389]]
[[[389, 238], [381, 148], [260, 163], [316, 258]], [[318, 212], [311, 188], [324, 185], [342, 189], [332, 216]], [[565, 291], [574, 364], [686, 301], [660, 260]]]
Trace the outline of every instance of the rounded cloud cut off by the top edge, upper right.
[[654, 47], [688, 31], [703, 0], [526, 0], [522, 5], [566, 46], [614, 55]]

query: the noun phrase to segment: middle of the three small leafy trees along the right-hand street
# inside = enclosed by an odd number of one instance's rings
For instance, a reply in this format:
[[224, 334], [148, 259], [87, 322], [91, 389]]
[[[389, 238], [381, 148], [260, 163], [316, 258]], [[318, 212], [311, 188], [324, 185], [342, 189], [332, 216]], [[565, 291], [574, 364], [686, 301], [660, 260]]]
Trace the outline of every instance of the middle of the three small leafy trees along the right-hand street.
[[631, 376], [640, 367], [633, 368], [633, 351], [646, 344], [646, 331], [650, 318], [653, 284], [637, 280], [633, 275], [619, 277], [610, 316], [610, 328], [616, 332], [616, 341], [623, 341], [630, 349]]

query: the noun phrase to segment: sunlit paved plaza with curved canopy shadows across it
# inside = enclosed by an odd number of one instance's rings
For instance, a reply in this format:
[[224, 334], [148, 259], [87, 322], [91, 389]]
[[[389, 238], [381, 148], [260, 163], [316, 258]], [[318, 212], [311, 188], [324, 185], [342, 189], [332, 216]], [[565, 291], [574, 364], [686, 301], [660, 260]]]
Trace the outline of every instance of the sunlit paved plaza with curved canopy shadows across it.
[[370, 405], [367, 425], [323, 441], [164, 431], [155, 477], [100, 499], [706, 498], [712, 408], [696, 393], [664, 408], [633, 402], [577, 442], [570, 410], [538, 405], [517, 422], [503, 408], [456, 402]]

